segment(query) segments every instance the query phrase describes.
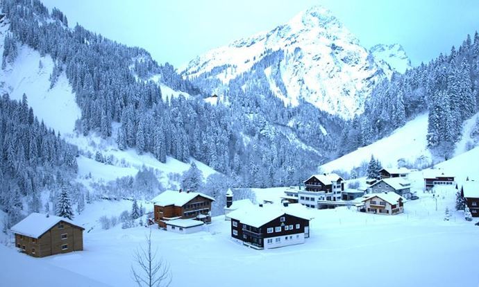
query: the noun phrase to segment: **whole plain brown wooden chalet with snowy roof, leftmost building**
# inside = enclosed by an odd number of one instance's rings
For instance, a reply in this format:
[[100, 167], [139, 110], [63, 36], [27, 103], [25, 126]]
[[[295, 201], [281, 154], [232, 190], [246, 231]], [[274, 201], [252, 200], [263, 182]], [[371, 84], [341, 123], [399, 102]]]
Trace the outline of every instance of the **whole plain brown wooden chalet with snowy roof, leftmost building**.
[[33, 213], [10, 230], [22, 252], [44, 257], [83, 250], [83, 227], [58, 216]]

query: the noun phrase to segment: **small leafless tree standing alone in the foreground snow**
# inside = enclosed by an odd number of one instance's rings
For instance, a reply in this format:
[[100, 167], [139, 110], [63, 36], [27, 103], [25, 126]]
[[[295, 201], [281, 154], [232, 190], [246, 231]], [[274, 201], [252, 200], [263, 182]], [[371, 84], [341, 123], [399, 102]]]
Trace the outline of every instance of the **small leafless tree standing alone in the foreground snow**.
[[146, 236], [146, 245], [135, 250], [134, 260], [137, 269], [131, 266], [131, 272], [138, 286], [166, 287], [171, 284], [169, 264], [158, 257], [158, 250], [151, 248], [151, 230]]

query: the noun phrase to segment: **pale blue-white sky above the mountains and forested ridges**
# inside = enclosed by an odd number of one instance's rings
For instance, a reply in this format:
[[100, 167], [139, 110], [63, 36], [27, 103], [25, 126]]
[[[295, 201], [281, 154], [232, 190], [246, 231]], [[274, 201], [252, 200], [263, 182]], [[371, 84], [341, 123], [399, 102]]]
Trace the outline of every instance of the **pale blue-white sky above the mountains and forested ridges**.
[[366, 48], [399, 43], [413, 65], [479, 30], [478, 0], [43, 0], [117, 42], [179, 67], [196, 55], [269, 31], [314, 5], [330, 9]]

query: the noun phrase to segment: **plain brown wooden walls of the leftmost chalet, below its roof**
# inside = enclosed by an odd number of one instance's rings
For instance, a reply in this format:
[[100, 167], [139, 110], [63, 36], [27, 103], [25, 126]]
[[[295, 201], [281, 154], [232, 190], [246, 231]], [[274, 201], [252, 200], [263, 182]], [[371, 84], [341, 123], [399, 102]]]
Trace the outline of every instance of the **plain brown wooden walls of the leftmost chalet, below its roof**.
[[83, 227], [60, 221], [38, 238], [15, 234], [15, 246], [35, 257], [81, 251], [83, 230]]

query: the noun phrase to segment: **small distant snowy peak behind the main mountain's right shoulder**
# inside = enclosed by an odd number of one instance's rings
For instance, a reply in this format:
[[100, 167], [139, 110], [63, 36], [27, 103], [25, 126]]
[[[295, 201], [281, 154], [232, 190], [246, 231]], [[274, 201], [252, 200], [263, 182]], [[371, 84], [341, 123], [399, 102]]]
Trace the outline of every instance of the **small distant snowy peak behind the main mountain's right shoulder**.
[[411, 69], [411, 60], [407, 57], [406, 52], [401, 44], [377, 44], [373, 46], [369, 53], [378, 62], [385, 62], [389, 65], [389, 69], [404, 73], [407, 69]]

